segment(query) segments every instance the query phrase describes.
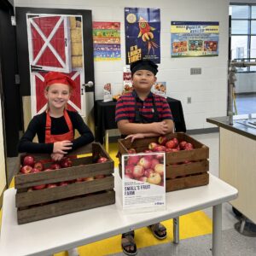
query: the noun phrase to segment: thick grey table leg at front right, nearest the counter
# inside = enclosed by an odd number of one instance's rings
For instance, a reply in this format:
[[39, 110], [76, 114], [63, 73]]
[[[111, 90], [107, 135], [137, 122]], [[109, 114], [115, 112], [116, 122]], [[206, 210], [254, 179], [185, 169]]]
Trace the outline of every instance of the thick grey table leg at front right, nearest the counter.
[[212, 208], [212, 256], [221, 255], [222, 204]]

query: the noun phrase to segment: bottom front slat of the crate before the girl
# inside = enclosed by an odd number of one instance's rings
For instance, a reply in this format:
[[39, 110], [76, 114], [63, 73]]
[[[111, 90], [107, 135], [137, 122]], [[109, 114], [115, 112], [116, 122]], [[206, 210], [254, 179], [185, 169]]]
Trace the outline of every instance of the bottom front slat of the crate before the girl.
[[26, 224], [45, 218], [61, 216], [67, 213], [79, 212], [96, 207], [103, 207], [115, 203], [115, 192], [113, 190], [96, 195], [81, 196], [49, 203], [43, 206], [28, 207], [17, 212], [18, 224]]

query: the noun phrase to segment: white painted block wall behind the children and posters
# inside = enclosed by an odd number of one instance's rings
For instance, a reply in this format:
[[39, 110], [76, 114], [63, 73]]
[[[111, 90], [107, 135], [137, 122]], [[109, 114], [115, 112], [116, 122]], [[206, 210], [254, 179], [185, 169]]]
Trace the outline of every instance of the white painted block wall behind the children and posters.
[[[113, 94], [122, 90], [122, 71], [125, 65], [125, 7], [160, 8], [161, 63], [159, 81], [166, 81], [167, 96], [183, 103], [189, 130], [215, 127], [207, 117], [226, 115], [229, 0], [15, 0], [15, 7], [58, 9], [91, 9], [93, 21], [121, 22], [121, 61], [95, 62], [96, 99], [102, 99], [102, 85], [113, 84]], [[171, 58], [170, 26], [172, 20], [218, 21], [218, 57]], [[202, 74], [190, 76], [191, 67], [201, 67]], [[187, 104], [187, 97], [192, 103]]]

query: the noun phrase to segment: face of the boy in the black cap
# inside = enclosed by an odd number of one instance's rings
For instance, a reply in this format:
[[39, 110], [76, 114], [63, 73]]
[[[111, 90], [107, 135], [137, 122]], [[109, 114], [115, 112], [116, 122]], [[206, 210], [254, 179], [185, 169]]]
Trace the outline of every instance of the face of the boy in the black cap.
[[141, 92], [149, 92], [155, 81], [154, 73], [148, 70], [138, 70], [132, 76], [134, 89]]

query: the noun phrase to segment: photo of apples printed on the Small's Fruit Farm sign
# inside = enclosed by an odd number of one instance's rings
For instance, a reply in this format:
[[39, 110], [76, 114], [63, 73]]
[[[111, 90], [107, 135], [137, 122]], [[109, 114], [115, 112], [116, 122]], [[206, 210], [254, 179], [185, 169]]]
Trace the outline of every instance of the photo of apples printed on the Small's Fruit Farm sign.
[[163, 185], [163, 154], [130, 155], [125, 164], [125, 177]]

